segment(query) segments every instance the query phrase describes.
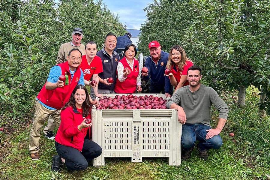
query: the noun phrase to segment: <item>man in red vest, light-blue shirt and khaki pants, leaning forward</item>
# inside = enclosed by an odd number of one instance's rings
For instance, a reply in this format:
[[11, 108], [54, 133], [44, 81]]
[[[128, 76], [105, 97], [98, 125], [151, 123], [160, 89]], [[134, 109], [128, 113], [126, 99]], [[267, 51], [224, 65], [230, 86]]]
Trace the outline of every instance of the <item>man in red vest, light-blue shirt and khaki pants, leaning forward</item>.
[[[83, 73], [79, 68], [82, 61], [82, 52], [78, 48], [69, 51], [67, 62], [52, 67], [49, 77], [37, 96], [33, 125], [30, 130], [29, 151], [32, 160], [39, 160], [40, 130], [44, 120], [51, 115], [57, 128], [60, 125], [61, 107], [69, 100], [77, 84], [84, 85]], [[59, 80], [64, 75], [65, 81]]]

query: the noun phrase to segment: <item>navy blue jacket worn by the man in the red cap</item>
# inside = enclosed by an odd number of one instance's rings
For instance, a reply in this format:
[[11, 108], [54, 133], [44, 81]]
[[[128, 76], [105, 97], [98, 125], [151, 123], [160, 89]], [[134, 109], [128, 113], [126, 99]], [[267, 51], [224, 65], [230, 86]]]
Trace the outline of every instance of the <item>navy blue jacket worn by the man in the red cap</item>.
[[153, 61], [150, 55], [145, 62], [145, 67], [148, 69], [148, 76], [142, 76], [144, 80], [150, 79], [150, 83], [156, 87], [164, 87], [165, 93], [172, 94], [172, 85], [169, 77], [164, 76], [169, 53], [161, 51], [161, 57], [158, 60], [158, 64]]

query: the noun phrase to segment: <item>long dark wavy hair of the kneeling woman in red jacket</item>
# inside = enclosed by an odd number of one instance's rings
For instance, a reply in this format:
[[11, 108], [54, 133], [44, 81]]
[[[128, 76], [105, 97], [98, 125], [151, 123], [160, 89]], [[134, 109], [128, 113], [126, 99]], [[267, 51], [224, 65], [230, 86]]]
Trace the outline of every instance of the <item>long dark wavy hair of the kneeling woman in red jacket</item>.
[[82, 116], [87, 117], [91, 112], [91, 103], [89, 99], [89, 94], [86, 87], [82, 84], [77, 84], [74, 90], [71, 93], [69, 101], [61, 108], [61, 110], [66, 109], [67, 107], [76, 108], [76, 101], [74, 98], [75, 92], [77, 89], [83, 89], [85, 91], [85, 101], [82, 103]]

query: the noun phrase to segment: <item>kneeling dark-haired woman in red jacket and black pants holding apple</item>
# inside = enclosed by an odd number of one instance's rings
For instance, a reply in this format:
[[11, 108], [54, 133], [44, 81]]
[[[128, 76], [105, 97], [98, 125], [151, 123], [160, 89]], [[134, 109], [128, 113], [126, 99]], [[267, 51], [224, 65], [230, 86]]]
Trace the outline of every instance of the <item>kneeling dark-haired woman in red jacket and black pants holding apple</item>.
[[102, 149], [97, 143], [85, 139], [92, 123], [85, 123], [86, 119], [91, 119], [91, 103], [84, 85], [75, 87], [61, 110], [61, 123], [55, 136], [58, 155], [52, 157], [52, 170], [59, 171], [63, 163], [67, 170], [85, 170], [93, 158], [101, 155]]

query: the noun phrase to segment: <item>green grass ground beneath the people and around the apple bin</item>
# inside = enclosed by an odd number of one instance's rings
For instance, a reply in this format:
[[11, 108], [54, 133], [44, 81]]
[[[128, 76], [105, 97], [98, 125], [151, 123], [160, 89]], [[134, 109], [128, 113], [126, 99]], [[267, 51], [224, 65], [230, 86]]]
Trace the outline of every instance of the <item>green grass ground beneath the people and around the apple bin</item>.
[[[258, 91], [247, 89], [243, 108], [235, 103], [236, 91], [225, 91], [220, 96], [230, 107], [229, 117], [220, 134], [223, 146], [209, 150], [207, 161], [200, 160], [194, 150], [191, 158], [179, 167], [169, 166], [167, 158], [143, 158], [141, 163], [131, 163], [131, 158], [105, 158], [104, 167], [89, 166], [84, 171], [69, 172], [63, 166], [61, 173], [53, 173], [50, 167], [56, 154], [54, 140], [46, 139], [41, 132], [41, 159], [32, 161], [29, 156], [29, 120], [0, 132], [0, 179], [270, 179], [270, 121], [269, 116], [257, 116], [254, 104], [258, 102]], [[213, 109], [211, 115], [215, 127], [218, 112]], [[234, 137], [229, 136], [231, 132]]]

